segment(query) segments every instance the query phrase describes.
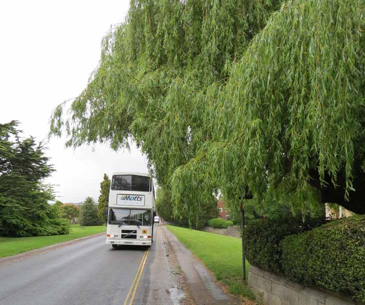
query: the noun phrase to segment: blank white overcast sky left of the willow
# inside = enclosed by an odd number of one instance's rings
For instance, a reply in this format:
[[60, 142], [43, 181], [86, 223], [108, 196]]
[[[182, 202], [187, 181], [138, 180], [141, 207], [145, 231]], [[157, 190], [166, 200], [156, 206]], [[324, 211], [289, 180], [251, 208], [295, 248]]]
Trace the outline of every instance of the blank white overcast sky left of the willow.
[[[129, 0], [0, 1], [0, 122], [19, 120], [24, 136], [45, 139], [52, 110], [85, 88], [103, 36], [128, 7]], [[56, 169], [47, 182], [63, 203], [97, 200], [104, 173], [147, 172], [137, 148], [116, 153], [98, 144], [92, 152], [64, 142], [52, 138], [46, 152]]]

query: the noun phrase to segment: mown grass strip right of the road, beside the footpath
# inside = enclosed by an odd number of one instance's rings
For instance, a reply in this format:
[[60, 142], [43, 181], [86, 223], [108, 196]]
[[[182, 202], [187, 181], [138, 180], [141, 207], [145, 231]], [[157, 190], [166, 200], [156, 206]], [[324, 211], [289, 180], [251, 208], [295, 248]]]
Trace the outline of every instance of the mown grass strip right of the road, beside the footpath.
[[[233, 295], [254, 299], [242, 283], [241, 239], [168, 225], [178, 239], [214, 273], [218, 281], [229, 287]], [[246, 278], [250, 265], [246, 261]]]

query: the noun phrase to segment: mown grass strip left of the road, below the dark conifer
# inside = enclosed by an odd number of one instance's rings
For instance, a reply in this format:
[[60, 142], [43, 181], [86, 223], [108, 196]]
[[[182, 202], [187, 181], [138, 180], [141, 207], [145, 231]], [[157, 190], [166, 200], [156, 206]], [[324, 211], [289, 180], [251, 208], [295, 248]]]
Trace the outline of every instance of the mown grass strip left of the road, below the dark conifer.
[[105, 225], [85, 226], [84, 229], [78, 224], [71, 225], [70, 234], [54, 236], [34, 237], [1, 237], [0, 257], [14, 255], [25, 251], [57, 244], [59, 242], [89, 236], [96, 233], [106, 232]]

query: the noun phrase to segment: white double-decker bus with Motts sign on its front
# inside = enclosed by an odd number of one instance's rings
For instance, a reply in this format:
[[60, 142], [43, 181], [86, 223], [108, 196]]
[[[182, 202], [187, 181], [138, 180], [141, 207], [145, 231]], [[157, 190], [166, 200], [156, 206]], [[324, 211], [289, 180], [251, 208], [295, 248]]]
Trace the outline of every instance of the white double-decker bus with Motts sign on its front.
[[106, 243], [151, 246], [155, 216], [153, 180], [146, 173], [113, 173]]

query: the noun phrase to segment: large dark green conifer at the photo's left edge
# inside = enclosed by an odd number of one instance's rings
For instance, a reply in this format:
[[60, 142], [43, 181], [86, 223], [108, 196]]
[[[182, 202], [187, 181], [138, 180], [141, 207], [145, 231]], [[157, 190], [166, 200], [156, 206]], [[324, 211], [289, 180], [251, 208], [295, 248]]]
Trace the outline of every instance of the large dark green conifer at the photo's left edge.
[[68, 234], [69, 224], [59, 218], [51, 186], [42, 183], [54, 169], [45, 147], [34, 138], [20, 138], [17, 121], [0, 124], [0, 235]]

